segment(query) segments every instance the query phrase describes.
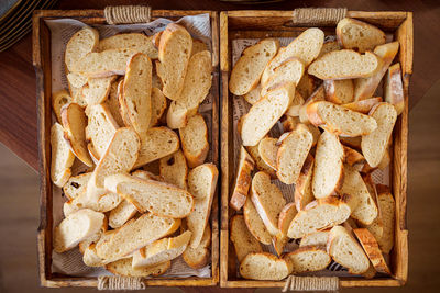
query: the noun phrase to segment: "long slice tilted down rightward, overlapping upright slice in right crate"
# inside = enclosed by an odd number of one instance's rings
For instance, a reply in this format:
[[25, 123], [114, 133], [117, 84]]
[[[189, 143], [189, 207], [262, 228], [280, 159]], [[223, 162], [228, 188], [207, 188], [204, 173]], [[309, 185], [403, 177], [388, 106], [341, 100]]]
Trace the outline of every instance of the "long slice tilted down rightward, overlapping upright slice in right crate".
[[326, 101], [308, 105], [307, 115], [314, 125], [337, 135], [367, 135], [377, 128], [375, 119]]

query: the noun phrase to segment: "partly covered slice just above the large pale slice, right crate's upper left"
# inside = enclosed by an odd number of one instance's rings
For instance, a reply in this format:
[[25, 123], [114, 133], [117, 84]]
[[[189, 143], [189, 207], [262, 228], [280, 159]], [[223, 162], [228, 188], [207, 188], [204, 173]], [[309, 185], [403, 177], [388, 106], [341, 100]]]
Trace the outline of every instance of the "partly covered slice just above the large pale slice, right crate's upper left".
[[261, 97], [265, 97], [267, 92], [279, 83], [293, 82], [298, 84], [305, 70], [304, 61], [299, 58], [290, 58], [275, 68], [274, 74], [270, 76], [266, 82], [262, 83]]

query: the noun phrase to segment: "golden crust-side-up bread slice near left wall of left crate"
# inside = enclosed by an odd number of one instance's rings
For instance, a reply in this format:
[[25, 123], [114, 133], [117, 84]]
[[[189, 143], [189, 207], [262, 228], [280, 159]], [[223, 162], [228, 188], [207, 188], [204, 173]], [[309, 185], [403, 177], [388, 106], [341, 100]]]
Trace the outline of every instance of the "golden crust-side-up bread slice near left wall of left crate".
[[77, 103], [66, 104], [62, 109], [62, 121], [64, 127], [64, 138], [69, 145], [74, 155], [84, 164], [91, 167], [94, 165], [86, 145], [87, 117], [84, 109]]

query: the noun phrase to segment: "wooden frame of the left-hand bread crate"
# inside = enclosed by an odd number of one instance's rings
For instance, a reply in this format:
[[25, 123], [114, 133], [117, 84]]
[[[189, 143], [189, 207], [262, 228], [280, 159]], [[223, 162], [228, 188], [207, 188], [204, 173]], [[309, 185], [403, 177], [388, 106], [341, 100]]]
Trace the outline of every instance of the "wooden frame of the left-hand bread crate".
[[[219, 157], [219, 29], [218, 13], [213, 11], [176, 11], [152, 10], [151, 19], [166, 18], [176, 21], [185, 15], [209, 13], [212, 33], [212, 67], [213, 94], [212, 109], [212, 161], [217, 166]], [[53, 199], [51, 182], [51, 32], [45, 20], [76, 19], [84, 23], [107, 24], [103, 10], [45, 10], [36, 11], [33, 16], [33, 64], [37, 86], [37, 127], [40, 155], [40, 210], [41, 223], [37, 233], [40, 282], [43, 286], [97, 286], [97, 278], [82, 278], [53, 273], [52, 267], [52, 235], [53, 235]], [[220, 185], [220, 184], [218, 184]], [[216, 192], [211, 211], [212, 246], [211, 246], [211, 278], [154, 278], [143, 279], [146, 286], [210, 286], [219, 280], [219, 222], [218, 192]]]

